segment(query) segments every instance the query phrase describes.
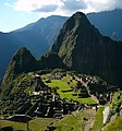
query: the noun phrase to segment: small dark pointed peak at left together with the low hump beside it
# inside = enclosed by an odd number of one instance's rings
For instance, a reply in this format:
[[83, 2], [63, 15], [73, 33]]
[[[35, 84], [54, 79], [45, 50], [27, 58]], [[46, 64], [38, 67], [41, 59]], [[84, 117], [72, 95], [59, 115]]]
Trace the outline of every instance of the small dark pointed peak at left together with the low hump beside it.
[[47, 53], [42, 56], [40, 60], [36, 60], [25, 47], [21, 48], [14, 55], [5, 72], [1, 84], [1, 97], [5, 97], [10, 94], [10, 91], [17, 82], [15, 79], [21, 74], [37, 70], [56, 68], [66, 68], [58, 55]]

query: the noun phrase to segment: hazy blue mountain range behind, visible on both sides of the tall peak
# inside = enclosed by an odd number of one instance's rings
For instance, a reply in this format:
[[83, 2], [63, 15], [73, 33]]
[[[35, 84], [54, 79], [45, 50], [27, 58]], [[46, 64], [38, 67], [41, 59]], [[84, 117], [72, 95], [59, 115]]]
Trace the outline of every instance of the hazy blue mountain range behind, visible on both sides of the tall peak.
[[[90, 13], [87, 17], [102, 35], [122, 39], [122, 10]], [[0, 33], [0, 76], [19, 48], [27, 47], [36, 57], [47, 52], [68, 19], [52, 15], [11, 33]]]

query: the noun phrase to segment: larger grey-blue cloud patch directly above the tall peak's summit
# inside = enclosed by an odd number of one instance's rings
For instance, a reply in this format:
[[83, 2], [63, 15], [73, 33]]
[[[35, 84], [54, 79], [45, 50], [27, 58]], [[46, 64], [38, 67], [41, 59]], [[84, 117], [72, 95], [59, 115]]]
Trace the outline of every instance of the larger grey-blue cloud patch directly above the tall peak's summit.
[[86, 9], [87, 4], [83, 0], [62, 0], [63, 9], [69, 11], [76, 11], [81, 9]]

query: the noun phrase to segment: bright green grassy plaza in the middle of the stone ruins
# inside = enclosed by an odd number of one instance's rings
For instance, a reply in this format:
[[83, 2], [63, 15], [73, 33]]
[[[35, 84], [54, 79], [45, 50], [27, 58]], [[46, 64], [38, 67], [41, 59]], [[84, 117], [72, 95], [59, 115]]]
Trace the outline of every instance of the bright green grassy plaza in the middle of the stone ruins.
[[[69, 100], [73, 99], [73, 100], [77, 100], [80, 103], [86, 103], [86, 104], [96, 104], [90, 97], [78, 97], [78, 93], [80, 91], [77, 91], [76, 93], [73, 91], [73, 87], [77, 86], [77, 81], [72, 80], [70, 75], [64, 76], [63, 79], [60, 80], [51, 80], [50, 83], [46, 83], [46, 81], [44, 81], [48, 86], [51, 87], [57, 87], [57, 93], [62, 97], [62, 98], [66, 98]], [[76, 95], [73, 95], [76, 94]]]

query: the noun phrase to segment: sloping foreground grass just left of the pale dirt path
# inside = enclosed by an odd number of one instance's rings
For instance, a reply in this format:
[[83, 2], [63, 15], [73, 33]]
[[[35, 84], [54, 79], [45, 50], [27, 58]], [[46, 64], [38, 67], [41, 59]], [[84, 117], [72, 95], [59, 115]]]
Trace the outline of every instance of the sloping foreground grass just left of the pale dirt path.
[[85, 129], [85, 118], [91, 118], [93, 115], [88, 114], [89, 110], [84, 110], [80, 112], [73, 112], [72, 115], [66, 115], [63, 119], [56, 122], [54, 131], [84, 131]]

